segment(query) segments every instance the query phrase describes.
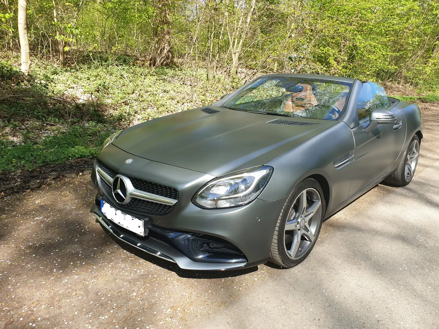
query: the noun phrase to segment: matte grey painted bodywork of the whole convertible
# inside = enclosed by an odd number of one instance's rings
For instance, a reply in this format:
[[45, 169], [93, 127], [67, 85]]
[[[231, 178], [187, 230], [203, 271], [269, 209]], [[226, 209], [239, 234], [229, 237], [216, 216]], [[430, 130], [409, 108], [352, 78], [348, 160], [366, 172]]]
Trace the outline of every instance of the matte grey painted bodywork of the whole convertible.
[[[148, 216], [151, 223], [218, 236], [245, 254], [248, 263], [244, 266], [263, 263], [269, 256], [279, 213], [300, 181], [313, 175], [327, 182], [325, 217], [328, 217], [392, 174], [410, 139], [415, 133], [422, 133], [416, 104], [389, 98], [391, 106], [386, 110], [395, 114], [401, 125], [394, 129], [392, 124], [380, 124], [367, 134], [365, 128], [369, 120], [359, 122], [356, 114], [360, 81], [321, 75], [292, 76], [353, 82], [342, 118], [338, 121], [284, 118], [221, 107], [239, 92], [238, 89], [209, 105], [220, 111], [218, 113], [206, 114], [198, 108], [125, 129], [101, 151], [98, 159], [123, 175], [179, 190], [174, 209], [165, 216]], [[319, 124], [267, 123], [279, 118]], [[128, 158], [133, 158], [133, 162], [125, 164]], [[335, 166], [339, 159], [345, 158], [348, 160]], [[263, 164], [273, 166], [273, 175], [250, 204], [201, 209], [191, 203], [194, 193], [215, 177]], [[99, 186], [95, 170], [92, 179]], [[101, 188], [99, 196], [117, 207]], [[99, 214], [97, 207], [92, 211]], [[138, 216], [142, 218], [141, 214]], [[160, 245], [155, 248], [166, 251]], [[185, 268], [222, 269], [220, 265], [212, 266], [199, 263]]]

